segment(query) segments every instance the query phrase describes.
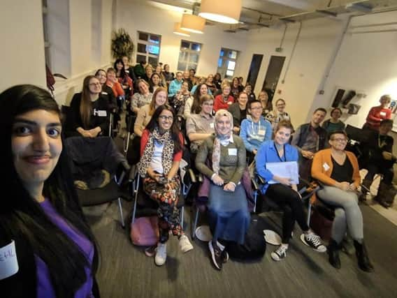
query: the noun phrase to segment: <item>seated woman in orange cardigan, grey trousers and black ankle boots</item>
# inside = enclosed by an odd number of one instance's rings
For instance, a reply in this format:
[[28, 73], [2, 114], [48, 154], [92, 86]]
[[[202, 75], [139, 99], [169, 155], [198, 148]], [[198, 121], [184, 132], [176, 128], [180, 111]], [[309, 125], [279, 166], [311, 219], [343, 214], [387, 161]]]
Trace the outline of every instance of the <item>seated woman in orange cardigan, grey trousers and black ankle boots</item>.
[[363, 215], [356, 192], [361, 180], [359, 163], [352, 152], [345, 151], [347, 135], [344, 131], [333, 131], [329, 144], [331, 148], [318, 151], [312, 163], [312, 177], [325, 184], [317, 192], [318, 197], [336, 208], [328, 247], [329, 262], [340, 268], [340, 243], [349, 232], [354, 239], [360, 269], [370, 272], [373, 266], [364, 245]]

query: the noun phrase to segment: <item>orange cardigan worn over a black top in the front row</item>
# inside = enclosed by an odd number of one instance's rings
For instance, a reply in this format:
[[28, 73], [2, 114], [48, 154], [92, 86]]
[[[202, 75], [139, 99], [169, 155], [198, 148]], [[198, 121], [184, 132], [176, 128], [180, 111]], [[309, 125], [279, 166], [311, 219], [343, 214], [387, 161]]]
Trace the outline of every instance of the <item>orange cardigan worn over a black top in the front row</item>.
[[[353, 166], [353, 180], [354, 186], [358, 187], [361, 182], [360, 172], [359, 172], [359, 162], [356, 156], [350, 152], [345, 151], [347, 158], [349, 158], [350, 163]], [[331, 178], [333, 170], [333, 163], [331, 160], [331, 149], [320, 150], [315, 154], [312, 163], [312, 177], [318, 181], [328, 185], [335, 186], [336, 180]], [[312, 202], [315, 198], [312, 198]]]

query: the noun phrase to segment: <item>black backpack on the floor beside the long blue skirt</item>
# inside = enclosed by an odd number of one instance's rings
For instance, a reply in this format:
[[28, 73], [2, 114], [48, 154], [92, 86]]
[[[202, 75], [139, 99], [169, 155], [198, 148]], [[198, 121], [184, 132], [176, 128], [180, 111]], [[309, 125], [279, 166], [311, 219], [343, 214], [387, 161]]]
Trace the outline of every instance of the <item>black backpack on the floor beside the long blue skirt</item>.
[[227, 247], [227, 252], [231, 258], [237, 260], [260, 260], [265, 255], [266, 241], [263, 221], [264, 219], [257, 215], [251, 216], [250, 228], [245, 234], [244, 244], [231, 242]]

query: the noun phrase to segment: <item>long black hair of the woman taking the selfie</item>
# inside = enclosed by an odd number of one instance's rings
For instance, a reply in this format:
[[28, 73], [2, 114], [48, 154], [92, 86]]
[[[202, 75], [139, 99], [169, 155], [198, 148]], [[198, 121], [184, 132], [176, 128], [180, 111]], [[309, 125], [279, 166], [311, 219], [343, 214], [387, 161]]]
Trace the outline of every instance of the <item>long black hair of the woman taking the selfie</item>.
[[[46, 110], [60, 116], [59, 107], [48, 91], [34, 85], [18, 85], [0, 94], [0, 130], [3, 136], [0, 174], [2, 191], [10, 194], [1, 202], [1, 237], [19, 239], [26, 244], [24, 250], [32, 260], [37, 255], [45, 262], [57, 297], [74, 297], [87, 279], [85, 267], [90, 267], [89, 260], [78, 245], [50, 221], [40, 204], [24, 188], [13, 162], [11, 138], [15, 117], [32, 110]], [[68, 165], [68, 156], [63, 149], [55, 169], [44, 183], [43, 195], [62, 218], [92, 242], [96, 251], [94, 236], [78, 205]], [[92, 276], [97, 267], [98, 254], [95, 253]], [[26, 274], [27, 270], [20, 272], [23, 273]]]

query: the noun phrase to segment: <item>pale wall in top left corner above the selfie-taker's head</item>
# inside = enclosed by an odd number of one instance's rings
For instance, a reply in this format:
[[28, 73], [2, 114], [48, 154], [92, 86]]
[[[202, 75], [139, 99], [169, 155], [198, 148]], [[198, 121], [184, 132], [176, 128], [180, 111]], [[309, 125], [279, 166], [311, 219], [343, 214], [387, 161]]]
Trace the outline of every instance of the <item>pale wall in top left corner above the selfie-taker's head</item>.
[[2, 3], [0, 28], [0, 92], [15, 84], [45, 87], [41, 0]]

